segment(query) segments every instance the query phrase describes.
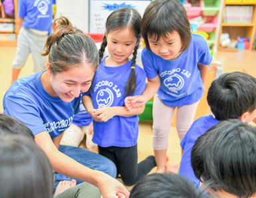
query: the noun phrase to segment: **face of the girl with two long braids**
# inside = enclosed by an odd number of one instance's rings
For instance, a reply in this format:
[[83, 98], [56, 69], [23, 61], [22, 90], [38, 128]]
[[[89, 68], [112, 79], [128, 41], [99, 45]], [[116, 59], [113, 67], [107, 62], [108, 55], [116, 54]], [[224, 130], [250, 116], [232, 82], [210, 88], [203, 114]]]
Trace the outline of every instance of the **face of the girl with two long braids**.
[[125, 64], [137, 43], [137, 39], [131, 29], [125, 27], [116, 31], [110, 31], [107, 35], [108, 61], [113, 66]]

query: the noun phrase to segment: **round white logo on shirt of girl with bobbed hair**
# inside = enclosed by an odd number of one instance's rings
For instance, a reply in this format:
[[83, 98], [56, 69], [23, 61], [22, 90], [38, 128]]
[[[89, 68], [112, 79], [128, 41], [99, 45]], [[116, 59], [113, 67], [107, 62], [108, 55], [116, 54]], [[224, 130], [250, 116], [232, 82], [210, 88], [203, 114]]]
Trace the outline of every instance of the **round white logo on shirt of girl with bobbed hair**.
[[171, 91], [177, 93], [184, 86], [184, 79], [179, 74], [173, 74], [163, 81], [163, 84]]

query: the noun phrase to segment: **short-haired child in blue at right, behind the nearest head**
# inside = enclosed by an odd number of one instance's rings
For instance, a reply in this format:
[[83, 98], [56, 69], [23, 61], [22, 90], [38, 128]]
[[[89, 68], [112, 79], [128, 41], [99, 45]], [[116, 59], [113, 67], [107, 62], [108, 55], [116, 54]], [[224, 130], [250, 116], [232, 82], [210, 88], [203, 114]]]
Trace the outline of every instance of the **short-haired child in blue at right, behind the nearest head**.
[[183, 155], [179, 174], [193, 181], [196, 187], [200, 181], [191, 167], [191, 149], [195, 141], [222, 120], [239, 118], [242, 122], [256, 122], [256, 79], [242, 72], [222, 74], [211, 83], [207, 102], [214, 117], [203, 116], [195, 120], [181, 141]]

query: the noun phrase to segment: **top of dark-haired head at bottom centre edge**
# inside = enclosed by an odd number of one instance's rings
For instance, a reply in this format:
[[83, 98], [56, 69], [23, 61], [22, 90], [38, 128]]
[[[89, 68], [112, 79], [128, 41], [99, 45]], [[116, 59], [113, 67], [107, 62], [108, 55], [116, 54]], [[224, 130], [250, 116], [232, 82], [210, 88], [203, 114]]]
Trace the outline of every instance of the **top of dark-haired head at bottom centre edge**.
[[182, 175], [153, 173], [141, 178], [131, 189], [130, 198], [206, 197]]

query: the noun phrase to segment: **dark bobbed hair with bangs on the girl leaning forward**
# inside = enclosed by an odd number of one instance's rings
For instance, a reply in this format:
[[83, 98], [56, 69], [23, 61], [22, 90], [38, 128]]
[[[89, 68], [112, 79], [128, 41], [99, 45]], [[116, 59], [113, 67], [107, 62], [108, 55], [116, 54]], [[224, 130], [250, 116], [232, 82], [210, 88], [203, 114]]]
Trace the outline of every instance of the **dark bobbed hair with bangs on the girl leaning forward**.
[[146, 8], [142, 21], [141, 33], [148, 50], [148, 37], [165, 38], [167, 33], [177, 31], [181, 37], [181, 51], [188, 49], [191, 41], [191, 27], [183, 4], [179, 0], [155, 0]]

